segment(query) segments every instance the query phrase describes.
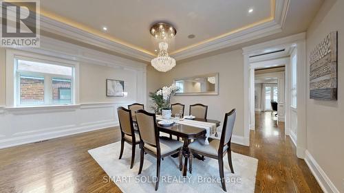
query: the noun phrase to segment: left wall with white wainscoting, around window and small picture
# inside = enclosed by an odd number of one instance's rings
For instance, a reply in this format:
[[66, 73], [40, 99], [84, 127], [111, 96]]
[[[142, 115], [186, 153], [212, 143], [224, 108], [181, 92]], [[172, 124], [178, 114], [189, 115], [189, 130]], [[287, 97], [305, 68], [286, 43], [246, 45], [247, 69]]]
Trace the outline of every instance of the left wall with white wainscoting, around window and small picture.
[[[0, 55], [6, 51], [0, 48]], [[42, 38], [40, 49], [22, 52], [73, 60], [79, 63], [79, 104], [21, 107], [6, 105], [6, 88], [0, 84], [0, 148], [41, 141], [118, 125], [116, 109], [147, 102], [146, 65], [94, 49]], [[6, 57], [0, 58], [0, 77], [6, 77]], [[127, 97], [106, 97], [106, 79], [125, 81]], [[4, 100], [5, 99], [5, 100]], [[1, 106], [0, 104], [0, 106]]]

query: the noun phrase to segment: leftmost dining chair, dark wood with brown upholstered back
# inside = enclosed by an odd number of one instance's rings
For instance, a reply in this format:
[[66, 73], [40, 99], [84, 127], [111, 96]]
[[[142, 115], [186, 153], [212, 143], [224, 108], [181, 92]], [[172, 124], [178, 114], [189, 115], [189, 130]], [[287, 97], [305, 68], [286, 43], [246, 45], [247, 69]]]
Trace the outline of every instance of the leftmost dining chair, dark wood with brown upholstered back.
[[135, 160], [135, 147], [140, 145], [140, 136], [133, 128], [133, 119], [131, 117], [131, 111], [120, 106], [117, 109], [118, 120], [120, 122], [120, 158], [123, 155], [123, 149], [125, 147], [125, 142], [131, 145], [131, 165], [130, 169], [133, 168], [133, 162]]

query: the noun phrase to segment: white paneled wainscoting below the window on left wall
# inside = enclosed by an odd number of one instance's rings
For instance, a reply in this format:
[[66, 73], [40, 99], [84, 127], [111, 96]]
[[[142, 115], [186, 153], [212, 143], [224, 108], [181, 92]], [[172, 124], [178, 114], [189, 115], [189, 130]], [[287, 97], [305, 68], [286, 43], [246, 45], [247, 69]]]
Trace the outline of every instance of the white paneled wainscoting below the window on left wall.
[[116, 109], [133, 102], [0, 108], [0, 149], [118, 126]]

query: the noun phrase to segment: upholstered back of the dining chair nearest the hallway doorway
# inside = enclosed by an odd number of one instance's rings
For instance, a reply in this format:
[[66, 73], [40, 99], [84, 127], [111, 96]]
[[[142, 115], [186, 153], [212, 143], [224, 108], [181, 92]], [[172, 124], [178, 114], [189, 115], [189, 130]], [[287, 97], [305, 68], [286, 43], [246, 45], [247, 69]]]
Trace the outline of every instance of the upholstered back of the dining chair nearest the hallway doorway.
[[223, 148], [226, 145], [230, 146], [230, 139], [232, 138], [236, 114], [236, 110], [233, 109], [224, 115], [224, 126], [222, 128], [219, 148]]

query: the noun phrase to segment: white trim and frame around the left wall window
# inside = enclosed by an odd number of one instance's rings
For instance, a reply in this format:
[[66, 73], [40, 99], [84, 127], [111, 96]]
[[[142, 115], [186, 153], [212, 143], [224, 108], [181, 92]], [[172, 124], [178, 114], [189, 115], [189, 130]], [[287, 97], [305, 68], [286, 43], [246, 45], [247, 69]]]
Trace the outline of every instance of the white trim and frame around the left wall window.
[[[51, 73], [36, 73], [36, 72], [29, 72], [29, 71], [18, 71], [17, 73], [17, 60], [30, 60], [36, 61], [40, 63], [48, 63], [52, 65], [61, 65], [72, 67], [72, 76], [63, 76], [63, 75], [56, 75]], [[72, 102], [71, 104], [47, 104], [45, 98], [45, 102], [42, 105], [30, 105], [30, 104], [20, 104], [18, 100], [20, 100], [17, 95], [20, 93], [18, 89], [19, 81], [18, 78], [22, 75], [28, 76], [40, 76], [43, 74], [43, 77], [49, 76], [49, 80], [45, 79], [45, 85], [48, 82], [52, 83], [52, 78], [69, 78], [71, 79], [71, 92], [72, 92]], [[50, 86], [51, 87], [51, 86]], [[46, 87], [45, 87], [46, 88]], [[45, 89], [46, 91], [46, 89]], [[30, 52], [22, 52], [18, 50], [6, 49], [6, 106], [12, 108], [22, 108], [22, 107], [36, 107], [36, 106], [75, 106], [79, 104], [79, 63], [73, 60], [65, 60], [63, 58], [58, 58], [57, 56], [44, 56], [41, 54], [32, 54]]]

